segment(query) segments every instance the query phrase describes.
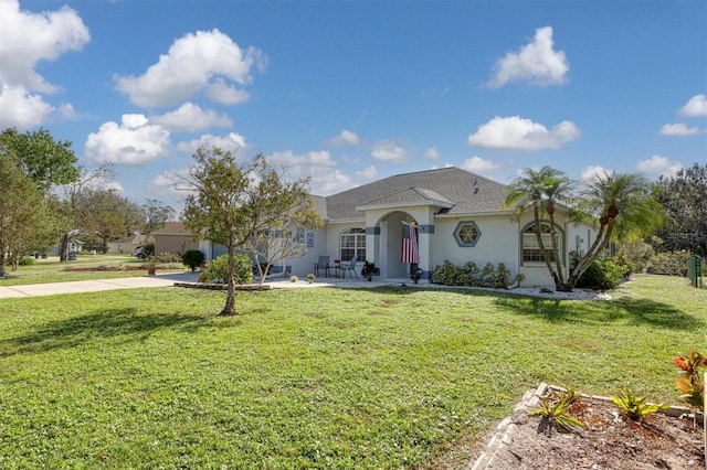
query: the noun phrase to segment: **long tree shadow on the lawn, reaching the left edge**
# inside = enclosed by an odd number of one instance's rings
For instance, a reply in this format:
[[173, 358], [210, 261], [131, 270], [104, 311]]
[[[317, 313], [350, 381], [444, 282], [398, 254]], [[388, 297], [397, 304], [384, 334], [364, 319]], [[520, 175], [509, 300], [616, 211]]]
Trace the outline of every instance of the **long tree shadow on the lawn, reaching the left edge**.
[[139, 314], [135, 308], [96, 310], [93, 313], [39, 324], [27, 334], [0, 341], [0, 357], [70, 349], [95, 340], [123, 338], [144, 341], [155, 331], [179, 327], [194, 331], [213, 318], [173, 313]]

